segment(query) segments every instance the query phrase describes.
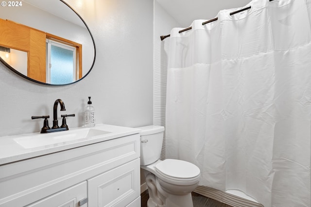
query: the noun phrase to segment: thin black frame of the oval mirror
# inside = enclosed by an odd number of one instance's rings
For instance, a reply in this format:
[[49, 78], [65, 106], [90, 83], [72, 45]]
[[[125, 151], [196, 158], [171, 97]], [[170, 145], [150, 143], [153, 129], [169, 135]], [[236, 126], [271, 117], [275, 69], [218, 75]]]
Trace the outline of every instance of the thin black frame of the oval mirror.
[[[69, 6], [68, 3], [66, 3], [64, 0], [60, 0], [60, 1], [63, 2], [64, 4], [66, 4], [83, 21], [83, 23], [86, 25], [86, 22], [83, 20], [83, 18], [71, 6]], [[35, 83], [38, 83], [38, 84], [43, 84], [43, 85], [47, 85], [47, 86], [66, 86], [66, 85], [77, 83], [77, 82], [81, 81], [82, 79], [84, 79], [88, 75], [88, 73], [93, 69], [93, 66], [95, 64], [95, 59], [96, 59], [95, 41], [94, 41], [93, 35], [92, 35], [91, 31], [89, 30], [87, 25], [86, 25], [86, 29], [88, 30], [89, 34], [91, 35], [91, 38], [92, 38], [92, 41], [93, 41], [93, 45], [94, 45], [94, 60], [93, 60], [91, 68], [87, 71], [86, 75], [83, 76], [82, 78], [80, 78], [79, 80], [74, 81], [72, 83], [68, 83], [68, 84], [47, 84], [47, 83], [43, 83], [43, 82], [40, 82], [40, 81], [36, 81], [36, 80], [34, 80], [32, 78], [29, 78], [26, 75], [18, 72], [16, 69], [14, 69], [12, 66], [10, 66], [7, 62], [5, 62], [1, 57], [0, 57], [0, 62], [3, 63], [8, 69], [11, 69], [13, 72], [15, 72], [18, 75], [20, 75], [21, 77], [26, 78], [26, 79], [28, 79], [30, 81], [33, 81]]]

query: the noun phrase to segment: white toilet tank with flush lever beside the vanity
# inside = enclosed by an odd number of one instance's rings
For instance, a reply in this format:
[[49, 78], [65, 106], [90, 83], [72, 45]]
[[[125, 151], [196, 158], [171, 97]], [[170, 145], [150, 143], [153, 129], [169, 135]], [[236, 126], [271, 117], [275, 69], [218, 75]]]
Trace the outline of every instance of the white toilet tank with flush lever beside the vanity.
[[163, 126], [138, 127], [140, 132], [140, 165], [149, 165], [160, 158], [163, 142]]

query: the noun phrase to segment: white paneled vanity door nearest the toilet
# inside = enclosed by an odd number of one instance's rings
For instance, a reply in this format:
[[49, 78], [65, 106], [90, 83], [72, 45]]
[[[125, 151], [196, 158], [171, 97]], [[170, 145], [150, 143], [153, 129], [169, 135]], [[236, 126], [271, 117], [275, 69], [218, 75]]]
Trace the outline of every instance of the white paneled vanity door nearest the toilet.
[[125, 207], [140, 195], [139, 158], [87, 181], [89, 207]]

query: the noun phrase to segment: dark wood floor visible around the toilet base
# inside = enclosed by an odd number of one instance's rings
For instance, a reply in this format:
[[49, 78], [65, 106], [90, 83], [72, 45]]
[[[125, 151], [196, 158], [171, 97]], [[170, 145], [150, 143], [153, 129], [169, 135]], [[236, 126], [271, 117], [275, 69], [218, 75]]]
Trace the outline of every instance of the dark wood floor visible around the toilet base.
[[[148, 190], [141, 193], [141, 207], [147, 207], [149, 198]], [[207, 198], [198, 193], [192, 192], [193, 207], [231, 207], [211, 198]]]

